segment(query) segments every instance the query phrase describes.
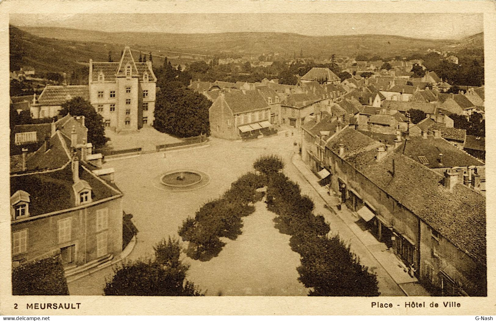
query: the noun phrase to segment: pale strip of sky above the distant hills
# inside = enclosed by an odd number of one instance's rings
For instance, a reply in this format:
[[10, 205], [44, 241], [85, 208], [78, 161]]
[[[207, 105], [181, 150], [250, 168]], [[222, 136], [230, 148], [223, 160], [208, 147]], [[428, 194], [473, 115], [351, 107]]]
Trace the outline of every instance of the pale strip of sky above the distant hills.
[[107, 32], [382, 34], [428, 39], [460, 39], [484, 30], [481, 13], [10, 14], [10, 23]]

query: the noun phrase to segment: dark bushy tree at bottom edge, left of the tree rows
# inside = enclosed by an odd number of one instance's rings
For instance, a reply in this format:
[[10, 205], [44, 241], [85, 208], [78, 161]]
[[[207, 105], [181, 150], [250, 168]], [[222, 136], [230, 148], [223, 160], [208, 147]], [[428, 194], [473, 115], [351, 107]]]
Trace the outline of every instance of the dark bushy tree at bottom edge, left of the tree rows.
[[179, 260], [177, 239], [165, 239], [155, 247], [155, 260], [125, 262], [107, 280], [105, 295], [201, 296], [200, 290], [186, 280], [189, 266]]

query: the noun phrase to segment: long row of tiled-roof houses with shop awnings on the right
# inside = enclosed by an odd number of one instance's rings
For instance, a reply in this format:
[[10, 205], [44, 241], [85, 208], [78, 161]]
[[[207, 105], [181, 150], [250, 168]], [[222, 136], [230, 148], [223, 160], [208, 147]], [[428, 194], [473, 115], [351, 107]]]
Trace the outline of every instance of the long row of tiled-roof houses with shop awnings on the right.
[[419, 280], [444, 295], [486, 295], [482, 161], [437, 130], [388, 137], [327, 112], [303, 130], [302, 158], [321, 184]]

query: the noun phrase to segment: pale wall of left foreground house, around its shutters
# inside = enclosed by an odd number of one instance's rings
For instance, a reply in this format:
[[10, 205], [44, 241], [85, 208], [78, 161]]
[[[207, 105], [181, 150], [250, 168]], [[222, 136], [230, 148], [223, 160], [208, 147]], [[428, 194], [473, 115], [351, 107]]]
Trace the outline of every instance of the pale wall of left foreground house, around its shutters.
[[[108, 228], [96, 231], [96, 211], [108, 209]], [[74, 245], [74, 261], [69, 265], [83, 265], [97, 259], [97, 235], [107, 233], [107, 254], [114, 256], [122, 252], [122, 198], [80, 210], [57, 214], [44, 218], [12, 222], [12, 242], [15, 232], [27, 230], [26, 252], [12, 256], [12, 261], [26, 261], [42, 257], [44, 254]], [[59, 221], [71, 219], [70, 240], [59, 243]], [[115, 228], [117, 227], [117, 228]], [[13, 243], [12, 243], [13, 244]]]

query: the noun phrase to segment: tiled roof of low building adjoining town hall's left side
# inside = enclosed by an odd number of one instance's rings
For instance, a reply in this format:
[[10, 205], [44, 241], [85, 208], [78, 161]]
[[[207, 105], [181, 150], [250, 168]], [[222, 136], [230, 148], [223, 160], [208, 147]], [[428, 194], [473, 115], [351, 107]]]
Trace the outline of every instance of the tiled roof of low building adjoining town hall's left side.
[[75, 97], [89, 101], [88, 86], [47, 86], [38, 97], [41, 106], [60, 106]]

